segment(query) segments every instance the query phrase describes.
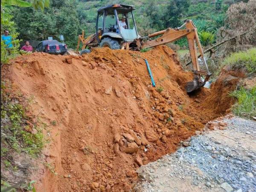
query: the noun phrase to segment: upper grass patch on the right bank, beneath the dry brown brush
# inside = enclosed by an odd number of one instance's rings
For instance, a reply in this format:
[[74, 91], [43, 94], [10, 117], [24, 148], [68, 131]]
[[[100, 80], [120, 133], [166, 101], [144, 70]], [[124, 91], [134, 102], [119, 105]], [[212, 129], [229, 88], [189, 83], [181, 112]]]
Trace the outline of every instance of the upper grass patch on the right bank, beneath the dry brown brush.
[[256, 74], [256, 48], [232, 53], [227, 57], [222, 66], [229, 65], [232, 69], [245, 68], [247, 73]]

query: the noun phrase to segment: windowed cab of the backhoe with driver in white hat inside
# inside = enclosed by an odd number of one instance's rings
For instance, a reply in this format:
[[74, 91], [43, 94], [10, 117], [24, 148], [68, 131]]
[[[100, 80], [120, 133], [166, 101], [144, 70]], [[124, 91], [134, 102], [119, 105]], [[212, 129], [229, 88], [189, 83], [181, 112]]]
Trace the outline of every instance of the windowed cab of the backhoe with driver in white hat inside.
[[133, 6], [121, 4], [99, 8], [96, 20], [98, 44], [105, 37], [116, 38], [122, 42], [132, 42], [139, 38], [133, 10]]

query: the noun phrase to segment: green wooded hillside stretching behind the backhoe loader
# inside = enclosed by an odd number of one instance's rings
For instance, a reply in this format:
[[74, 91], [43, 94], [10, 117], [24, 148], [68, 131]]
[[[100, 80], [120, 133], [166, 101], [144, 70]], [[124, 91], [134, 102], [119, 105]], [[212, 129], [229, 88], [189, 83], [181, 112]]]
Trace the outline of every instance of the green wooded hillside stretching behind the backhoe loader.
[[[95, 32], [97, 9], [113, 3], [133, 5], [135, 19], [140, 35], [178, 27], [185, 19], [192, 19], [201, 40], [206, 45], [215, 41], [219, 27], [224, 26], [225, 12], [233, 0], [51, 0], [49, 8], [12, 8], [13, 20], [17, 26], [18, 37], [41, 41], [52, 36], [58, 39], [64, 35], [65, 42], [74, 48], [81, 30], [90, 35]], [[26, 24], [25, 24], [26, 23]], [[186, 46], [186, 40], [178, 42]]]

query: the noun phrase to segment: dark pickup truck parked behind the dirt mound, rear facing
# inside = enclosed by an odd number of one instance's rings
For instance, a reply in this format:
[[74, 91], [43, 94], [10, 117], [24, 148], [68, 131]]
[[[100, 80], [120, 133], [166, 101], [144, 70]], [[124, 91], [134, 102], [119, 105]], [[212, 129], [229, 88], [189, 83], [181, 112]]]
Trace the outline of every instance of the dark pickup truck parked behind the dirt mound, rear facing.
[[45, 40], [41, 41], [35, 48], [37, 52], [46, 52], [54, 55], [64, 55], [67, 52], [67, 45], [60, 43], [57, 40]]

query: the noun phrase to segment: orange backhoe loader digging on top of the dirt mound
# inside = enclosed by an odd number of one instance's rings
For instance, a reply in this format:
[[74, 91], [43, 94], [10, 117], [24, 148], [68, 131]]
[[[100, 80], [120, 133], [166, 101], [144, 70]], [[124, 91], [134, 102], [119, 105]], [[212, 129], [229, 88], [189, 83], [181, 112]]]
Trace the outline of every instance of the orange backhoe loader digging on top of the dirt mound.
[[[194, 73], [194, 79], [186, 84], [185, 89], [189, 93], [204, 86], [211, 76], [211, 73], [209, 73], [204, 58], [204, 52], [198, 38], [197, 29], [192, 20], [186, 20], [182, 26], [175, 29], [168, 28], [163, 31], [149, 34], [145, 37], [140, 37], [137, 32], [133, 11], [133, 6], [122, 4], [113, 4], [99, 8], [96, 19], [96, 32], [84, 39], [84, 31], [82, 31], [82, 35], [79, 35], [78, 37], [79, 40], [76, 51], [78, 52], [79, 50], [80, 42], [82, 43], [80, 55], [83, 55], [96, 47], [140, 50], [171, 43], [186, 37], [193, 65], [192, 72]], [[122, 21], [119, 21], [120, 17], [122, 17]], [[206, 71], [202, 71], [199, 68], [196, 44]], [[204, 80], [202, 79], [202, 76], [204, 76]]]

